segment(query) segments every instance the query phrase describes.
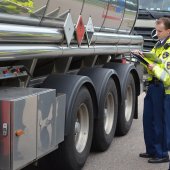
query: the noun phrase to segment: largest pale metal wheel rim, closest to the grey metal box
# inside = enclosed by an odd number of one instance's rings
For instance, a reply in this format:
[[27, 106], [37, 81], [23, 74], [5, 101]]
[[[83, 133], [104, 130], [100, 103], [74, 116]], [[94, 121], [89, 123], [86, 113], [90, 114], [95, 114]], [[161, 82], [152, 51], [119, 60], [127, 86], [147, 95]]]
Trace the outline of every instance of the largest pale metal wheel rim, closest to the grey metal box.
[[87, 106], [83, 103], [80, 105], [75, 122], [75, 146], [76, 150], [81, 153], [87, 143], [89, 134], [89, 113]]

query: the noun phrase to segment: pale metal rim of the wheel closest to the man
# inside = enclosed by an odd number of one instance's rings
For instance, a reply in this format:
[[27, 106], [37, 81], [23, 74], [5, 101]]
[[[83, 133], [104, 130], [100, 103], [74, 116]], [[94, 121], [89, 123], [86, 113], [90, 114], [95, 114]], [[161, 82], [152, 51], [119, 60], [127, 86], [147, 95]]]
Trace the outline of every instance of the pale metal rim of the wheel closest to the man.
[[132, 114], [132, 106], [133, 106], [133, 92], [132, 87], [128, 86], [126, 92], [126, 99], [125, 99], [125, 118], [126, 121], [130, 120]]

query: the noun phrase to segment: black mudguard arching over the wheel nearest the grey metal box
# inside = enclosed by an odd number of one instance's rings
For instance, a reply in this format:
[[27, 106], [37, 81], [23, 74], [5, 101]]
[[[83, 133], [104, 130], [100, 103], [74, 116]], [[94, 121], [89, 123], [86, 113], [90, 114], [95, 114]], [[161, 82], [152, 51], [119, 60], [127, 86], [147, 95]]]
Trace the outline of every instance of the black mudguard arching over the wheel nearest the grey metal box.
[[66, 94], [66, 118], [65, 118], [65, 135], [69, 134], [71, 126], [71, 114], [69, 111], [72, 109], [73, 103], [77, 96], [79, 89], [86, 86], [91, 94], [94, 103], [94, 112], [96, 113], [98, 105], [96, 99], [96, 92], [92, 81], [86, 76], [80, 75], [50, 75], [43, 82], [41, 87], [56, 89], [56, 93]]

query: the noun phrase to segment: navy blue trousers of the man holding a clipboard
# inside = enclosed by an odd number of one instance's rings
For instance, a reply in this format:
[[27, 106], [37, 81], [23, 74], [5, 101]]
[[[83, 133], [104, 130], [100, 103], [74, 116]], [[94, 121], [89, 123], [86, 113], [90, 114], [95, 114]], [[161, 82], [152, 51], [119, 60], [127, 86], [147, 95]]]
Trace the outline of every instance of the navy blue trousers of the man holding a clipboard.
[[162, 158], [168, 155], [164, 117], [164, 87], [149, 85], [144, 99], [143, 129], [146, 153]]

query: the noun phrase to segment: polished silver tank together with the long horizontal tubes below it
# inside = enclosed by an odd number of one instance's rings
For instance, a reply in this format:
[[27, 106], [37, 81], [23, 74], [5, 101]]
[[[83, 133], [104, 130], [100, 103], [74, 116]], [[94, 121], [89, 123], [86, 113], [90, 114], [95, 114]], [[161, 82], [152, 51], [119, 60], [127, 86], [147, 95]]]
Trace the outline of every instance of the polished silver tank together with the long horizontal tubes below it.
[[[32, 6], [24, 1], [31, 1]], [[141, 49], [143, 38], [130, 34], [137, 9], [138, 0], [1, 0], [0, 61], [118, 54]], [[76, 37], [80, 15], [85, 27], [89, 18], [94, 26], [91, 39], [85, 33], [81, 45]], [[65, 31], [68, 16], [73, 21], [70, 42]]]

